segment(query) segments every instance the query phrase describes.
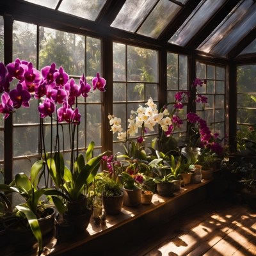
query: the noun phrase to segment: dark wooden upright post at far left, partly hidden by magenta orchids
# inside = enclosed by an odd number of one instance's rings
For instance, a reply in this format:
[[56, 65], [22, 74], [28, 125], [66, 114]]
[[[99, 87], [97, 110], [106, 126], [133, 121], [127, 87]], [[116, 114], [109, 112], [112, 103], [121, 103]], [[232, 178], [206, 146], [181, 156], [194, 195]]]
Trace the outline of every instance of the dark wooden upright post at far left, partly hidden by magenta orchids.
[[[12, 25], [12, 16], [4, 15], [5, 65], [12, 62]], [[13, 113], [10, 113], [10, 116], [4, 119], [4, 176], [6, 184], [10, 184], [13, 180]]]

